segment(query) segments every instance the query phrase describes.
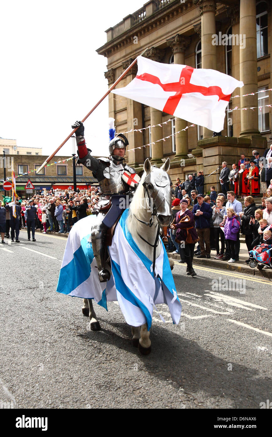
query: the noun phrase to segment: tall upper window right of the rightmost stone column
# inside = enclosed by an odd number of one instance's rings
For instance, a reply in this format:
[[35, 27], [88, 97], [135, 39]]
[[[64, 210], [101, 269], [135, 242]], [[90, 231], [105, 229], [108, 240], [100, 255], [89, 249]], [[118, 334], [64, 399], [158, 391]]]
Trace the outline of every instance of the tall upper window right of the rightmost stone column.
[[267, 3], [261, 1], [256, 5], [257, 58], [268, 55], [268, 15]]

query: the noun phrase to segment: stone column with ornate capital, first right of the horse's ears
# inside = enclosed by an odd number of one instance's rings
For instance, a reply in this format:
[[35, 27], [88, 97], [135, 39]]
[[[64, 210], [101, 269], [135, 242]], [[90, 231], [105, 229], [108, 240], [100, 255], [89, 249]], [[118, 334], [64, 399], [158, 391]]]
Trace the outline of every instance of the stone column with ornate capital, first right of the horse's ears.
[[[177, 34], [167, 41], [174, 54], [174, 64], [185, 65], [185, 50], [190, 44], [190, 38]], [[175, 121], [176, 132], [186, 128], [187, 121], [177, 118]], [[188, 132], [182, 131], [176, 134], [176, 156], [175, 160], [188, 158]]]

